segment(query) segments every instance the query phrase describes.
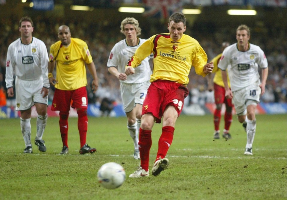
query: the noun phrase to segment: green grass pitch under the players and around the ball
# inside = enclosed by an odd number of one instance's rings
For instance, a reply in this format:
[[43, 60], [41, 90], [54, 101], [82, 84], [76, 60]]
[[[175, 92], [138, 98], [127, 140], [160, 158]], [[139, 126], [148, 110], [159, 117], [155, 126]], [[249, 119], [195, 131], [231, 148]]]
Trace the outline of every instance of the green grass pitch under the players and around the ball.
[[[69, 118], [69, 154], [59, 155], [59, 119], [48, 118], [41, 153], [23, 154], [19, 119], [0, 119], [0, 199], [286, 199], [285, 115], [257, 115], [253, 156], [244, 156], [246, 133], [233, 116], [231, 140], [213, 140], [213, 116], [180, 116], [168, 151], [168, 169], [159, 176], [132, 179], [139, 166], [126, 118], [89, 117], [87, 143], [94, 154], [79, 154], [77, 118]], [[32, 140], [36, 119], [31, 119]], [[152, 131], [150, 170], [162, 124]], [[221, 134], [223, 118], [221, 119]], [[107, 162], [121, 164], [124, 184], [107, 190], [97, 181]]]

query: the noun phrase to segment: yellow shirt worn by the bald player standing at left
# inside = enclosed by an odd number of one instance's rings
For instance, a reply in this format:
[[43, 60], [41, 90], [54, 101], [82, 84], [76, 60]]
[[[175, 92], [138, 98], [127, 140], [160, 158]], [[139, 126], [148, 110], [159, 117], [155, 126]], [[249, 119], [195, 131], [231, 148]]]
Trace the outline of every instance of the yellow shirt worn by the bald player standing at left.
[[71, 38], [68, 47], [61, 44], [61, 41], [50, 47], [50, 61], [56, 60], [55, 88], [60, 90], [76, 90], [87, 85], [85, 63], [92, 63], [92, 56], [88, 45], [78, 38]]

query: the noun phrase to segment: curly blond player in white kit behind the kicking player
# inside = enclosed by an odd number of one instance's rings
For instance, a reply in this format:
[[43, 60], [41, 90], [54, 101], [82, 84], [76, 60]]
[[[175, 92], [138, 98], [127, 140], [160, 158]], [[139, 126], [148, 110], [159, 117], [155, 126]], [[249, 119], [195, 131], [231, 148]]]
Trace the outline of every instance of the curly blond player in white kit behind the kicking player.
[[141, 34], [141, 28], [139, 28], [138, 20], [133, 17], [127, 17], [122, 21], [121, 33], [126, 38], [116, 43], [111, 50], [107, 67], [108, 71], [120, 80], [121, 96], [124, 111], [127, 115], [127, 128], [134, 142], [134, 159], [140, 159], [138, 133], [141, 124], [142, 104], [147, 94], [152, 74], [148, 60], [153, 56], [145, 58], [135, 68], [135, 73], [127, 76], [124, 70], [128, 60], [146, 40], [137, 37]]

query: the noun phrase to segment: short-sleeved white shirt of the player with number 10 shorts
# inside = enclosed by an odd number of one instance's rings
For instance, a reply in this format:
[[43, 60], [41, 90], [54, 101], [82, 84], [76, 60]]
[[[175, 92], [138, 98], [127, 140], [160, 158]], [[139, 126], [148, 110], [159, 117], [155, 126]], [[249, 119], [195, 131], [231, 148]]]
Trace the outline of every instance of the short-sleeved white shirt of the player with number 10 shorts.
[[259, 46], [249, 44], [247, 51], [239, 51], [237, 43], [226, 47], [222, 53], [218, 68], [228, 70], [231, 90], [245, 88], [256, 81], [260, 83], [258, 66], [268, 67], [267, 59]]

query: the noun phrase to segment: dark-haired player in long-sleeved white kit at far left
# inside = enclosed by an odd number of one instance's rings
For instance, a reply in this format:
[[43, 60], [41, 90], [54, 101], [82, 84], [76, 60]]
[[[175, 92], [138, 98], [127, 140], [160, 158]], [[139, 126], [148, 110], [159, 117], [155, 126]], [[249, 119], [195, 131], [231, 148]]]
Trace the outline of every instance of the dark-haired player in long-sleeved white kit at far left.
[[37, 134], [35, 144], [42, 152], [46, 151], [42, 140], [47, 123], [48, 106], [48, 52], [44, 42], [32, 37], [33, 21], [22, 17], [19, 21], [21, 38], [8, 47], [6, 60], [6, 87], [9, 97], [14, 96], [13, 76], [16, 86], [16, 110], [21, 113], [21, 130], [25, 141], [24, 153], [32, 153], [31, 144], [31, 107], [35, 105], [37, 117]]

